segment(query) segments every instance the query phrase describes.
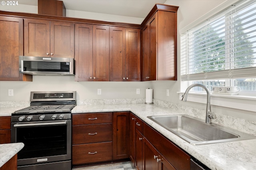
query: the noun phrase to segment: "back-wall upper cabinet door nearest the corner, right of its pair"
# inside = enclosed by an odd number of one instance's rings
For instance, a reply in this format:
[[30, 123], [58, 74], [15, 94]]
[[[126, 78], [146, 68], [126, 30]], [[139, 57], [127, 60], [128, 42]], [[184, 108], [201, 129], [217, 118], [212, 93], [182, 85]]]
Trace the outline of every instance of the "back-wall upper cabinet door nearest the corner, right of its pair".
[[126, 28], [126, 81], [140, 81], [140, 29]]

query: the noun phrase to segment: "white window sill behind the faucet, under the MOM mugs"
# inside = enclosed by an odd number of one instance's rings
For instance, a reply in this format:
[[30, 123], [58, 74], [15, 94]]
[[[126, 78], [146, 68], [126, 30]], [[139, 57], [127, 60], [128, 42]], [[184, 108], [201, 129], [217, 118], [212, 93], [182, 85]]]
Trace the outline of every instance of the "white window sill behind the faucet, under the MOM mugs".
[[[177, 93], [180, 94], [180, 100], [182, 100], [184, 92]], [[206, 104], [205, 92], [189, 92], [188, 94], [187, 101]], [[256, 96], [222, 95], [211, 93], [211, 105], [255, 112]]]

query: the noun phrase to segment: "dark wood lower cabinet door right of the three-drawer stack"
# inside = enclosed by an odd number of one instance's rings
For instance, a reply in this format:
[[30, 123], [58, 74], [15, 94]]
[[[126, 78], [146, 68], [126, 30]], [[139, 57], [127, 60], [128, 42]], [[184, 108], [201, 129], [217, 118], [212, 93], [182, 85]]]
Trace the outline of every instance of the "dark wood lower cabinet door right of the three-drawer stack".
[[113, 159], [129, 158], [130, 153], [130, 113], [113, 114]]

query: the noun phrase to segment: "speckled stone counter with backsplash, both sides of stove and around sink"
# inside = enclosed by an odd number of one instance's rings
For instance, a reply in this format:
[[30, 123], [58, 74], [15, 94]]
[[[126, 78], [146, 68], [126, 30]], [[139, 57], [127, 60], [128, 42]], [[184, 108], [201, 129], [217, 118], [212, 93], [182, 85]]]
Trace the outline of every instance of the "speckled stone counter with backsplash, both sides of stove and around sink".
[[[204, 119], [205, 110], [188, 108], [158, 100], [153, 100], [154, 104], [152, 105], [142, 104], [144, 103], [143, 100], [122, 100], [118, 102], [119, 104], [114, 104], [116, 103], [115, 100], [78, 101], [78, 106], [72, 109], [72, 113], [131, 111], [212, 170], [256, 170], [256, 139], [208, 145], [191, 145], [147, 118], [147, 116], [154, 115], [188, 114]], [[10, 116], [12, 112], [24, 107], [27, 106], [18, 105], [12, 107], [7, 102], [4, 106], [0, 107], [0, 116]], [[216, 115], [217, 119], [213, 119], [213, 123], [256, 135], [255, 121], [230, 117], [219, 113], [216, 113]]]

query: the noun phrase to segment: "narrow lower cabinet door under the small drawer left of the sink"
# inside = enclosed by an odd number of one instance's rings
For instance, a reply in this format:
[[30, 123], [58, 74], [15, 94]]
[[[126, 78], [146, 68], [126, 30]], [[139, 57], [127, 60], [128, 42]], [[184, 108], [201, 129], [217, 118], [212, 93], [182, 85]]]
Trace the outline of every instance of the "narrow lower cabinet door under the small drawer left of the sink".
[[143, 136], [135, 129], [135, 165], [138, 170], [143, 169]]

